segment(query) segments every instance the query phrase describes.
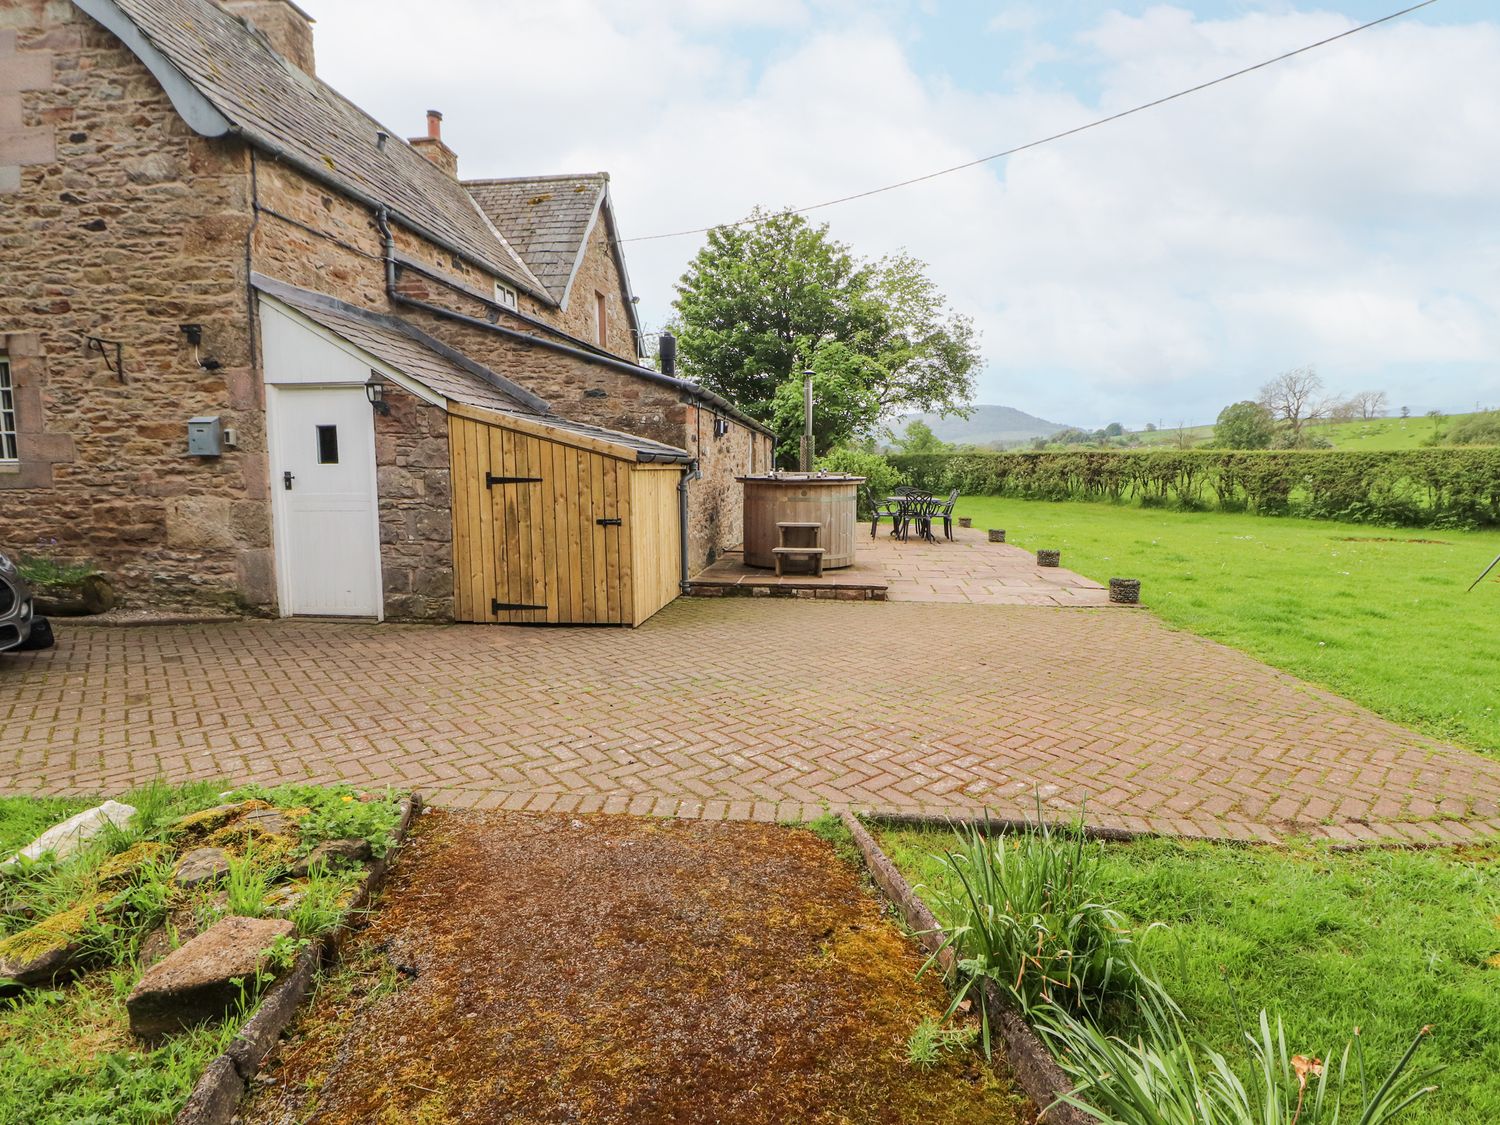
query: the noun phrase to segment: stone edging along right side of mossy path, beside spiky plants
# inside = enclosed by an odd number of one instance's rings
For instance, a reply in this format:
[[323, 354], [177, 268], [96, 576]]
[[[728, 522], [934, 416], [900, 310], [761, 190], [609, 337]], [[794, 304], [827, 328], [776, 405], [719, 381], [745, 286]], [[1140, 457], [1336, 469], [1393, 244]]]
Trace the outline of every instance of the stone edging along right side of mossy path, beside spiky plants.
[[[882, 894], [900, 910], [902, 918], [910, 928], [912, 936], [927, 952], [936, 952], [942, 946], [942, 928], [927, 904], [916, 897], [916, 892], [906, 882], [906, 878], [896, 868], [896, 864], [880, 850], [874, 837], [866, 830], [852, 813], [840, 813], [840, 819], [854, 836], [855, 846], [864, 856], [870, 878]], [[952, 966], [952, 950], [938, 954], [938, 962], [946, 970]], [[1059, 1102], [1064, 1094], [1072, 1090], [1072, 1083], [1062, 1068], [1052, 1058], [1052, 1053], [1036, 1038], [1036, 1032], [1020, 1017], [1014, 1005], [1006, 1004], [1000, 990], [988, 984], [984, 990], [982, 1004], [990, 1020], [990, 1034], [998, 1035], [1005, 1050], [1005, 1059], [1011, 1065], [1017, 1084], [1026, 1090], [1026, 1096], [1041, 1110], [1041, 1119], [1047, 1125], [1090, 1125], [1094, 1118], [1082, 1110]]]

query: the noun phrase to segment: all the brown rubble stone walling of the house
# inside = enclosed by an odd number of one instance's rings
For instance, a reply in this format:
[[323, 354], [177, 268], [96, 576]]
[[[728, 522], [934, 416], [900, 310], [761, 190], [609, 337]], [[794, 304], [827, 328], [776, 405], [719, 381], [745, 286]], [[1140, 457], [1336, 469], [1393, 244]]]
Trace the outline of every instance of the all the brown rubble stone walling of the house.
[[[492, 292], [495, 279], [452, 252], [399, 226], [396, 242], [426, 268]], [[724, 480], [742, 471], [747, 432], [714, 440], [711, 416], [670, 387], [393, 303], [382, 252], [362, 206], [237, 140], [196, 136], [144, 64], [72, 4], [0, 6], [0, 348], [21, 429], [21, 464], [0, 466], [0, 546], [92, 558], [132, 606], [274, 610], [249, 268], [405, 316], [567, 417], [694, 453], [702, 430], [694, 566], [738, 542]], [[526, 294], [520, 309], [592, 339], [594, 292], [604, 291], [609, 348], [633, 360], [603, 224], [574, 284], [567, 314]], [[402, 285], [544, 332], [416, 272]], [[201, 327], [201, 345], [183, 326]], [[105, 340], [102, 354], [88, 336]], [[111, 369], [114, 342], [123, 372]], [[396, 388], [390, 400], [376, 424], [387, 612], [441, 620], [452, 610], [446, 426]], [[198, 414], [234, 430], [222, 456], [188, 456], [186, 422]]]

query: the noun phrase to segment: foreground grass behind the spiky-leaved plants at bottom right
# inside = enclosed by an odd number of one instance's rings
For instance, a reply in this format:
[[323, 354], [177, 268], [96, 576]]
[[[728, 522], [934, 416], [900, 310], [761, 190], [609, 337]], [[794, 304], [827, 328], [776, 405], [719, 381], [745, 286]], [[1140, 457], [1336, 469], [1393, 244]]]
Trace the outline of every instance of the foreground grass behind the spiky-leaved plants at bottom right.
[[[942, 878], [946, 831], [884, 831], [914, 884]], [[1450, 850], [1336, 854], [1143, 840], [1104, 849], [1100, 897], [1132, 922], [1146, 968], [1214, 1047], [1244, 1058], [1256, 1012], [1281, 1014], [1305, 1054], [1362, 1029], [1384, 1072], [1425, 1023], [1419, 1068], [1440, 1090], [1402, 1120], [1500, 1120], [1500, 858]], [[939, 921], [944, 921], [939, 918]]]

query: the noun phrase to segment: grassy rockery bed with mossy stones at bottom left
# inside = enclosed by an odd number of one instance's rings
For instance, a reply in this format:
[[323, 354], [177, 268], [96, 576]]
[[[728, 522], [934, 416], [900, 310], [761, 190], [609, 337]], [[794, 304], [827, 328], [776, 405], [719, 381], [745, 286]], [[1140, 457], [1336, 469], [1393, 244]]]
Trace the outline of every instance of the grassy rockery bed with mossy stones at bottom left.
[[[358, 802], [366, 807], [364, 820], [390, 826], [399, 812], [393, 795], [364, 801], [346, 789], [309, 795], [315, 801], [291, 801], [278, 810], [256, 794], [225, 795], [222, 784], [152, 784], [120, 798], [138, 808], [124, 828], [102, 832], [63, 861], [44, 856], [0, 873], [0, 957], [68, 951], [69, 972], [87, 968], [75, 981], [58, 975], [51, 987], [0, 999], [0, 1122], [171, 1119], [254, 1004], [225, 1023], [153, 1047], [136, 1042], [124, 996], [144, 970], [141, 946], [154, 934], [152, 951], [164, 956], [226, 914], [284, 912], [306, 938], [336, 926], [363, 868], [298, 880], [296, 902], [285, 909], [268, 902], [292, 858], [322, 838], [304, 837], [303, 825], [318, 804]], [[24, 798], [9, 798], [0, 818], [21, 846], [93, 804], [38, 801], [28, 807]], [[368, 808], [372, 804], [381, 807]], [[278, 831], [246, 820], [248, 813], [273, 810], [267, 819]], [[177, 858], [206, 840], [230, 852], [230, 876], [192, 891], [177, 886], [171, 878]], [[50, 980], [51, 970], [39, 975]]]

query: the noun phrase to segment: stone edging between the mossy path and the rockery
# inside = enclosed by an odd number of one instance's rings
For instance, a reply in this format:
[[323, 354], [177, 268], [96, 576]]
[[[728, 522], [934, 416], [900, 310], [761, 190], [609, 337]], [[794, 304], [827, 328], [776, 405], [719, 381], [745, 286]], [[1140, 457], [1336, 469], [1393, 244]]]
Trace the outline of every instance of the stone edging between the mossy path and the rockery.
[[312, 942], [298, 956], [291, 972], [282, 976], [266, 996], [240, 1034], [234, 1036], [224, 1054], [204, 1068], [192, 1096], [178, 1112], [177, 1125], [228, 1125], [240, 1107], [244, 1088], [260, 1071], [266, 1056], [291, 1024], [292, 1017], [312, 988], [318, 968], [338, 958], [339, 948], [351, 930], [350, 920], [363, 909], [380, 891], [390, 872], [396, 854], [406, 843], [406, 832], [422, 812], [422, 795], [411, 794], [400, 801], [400, 820], [396, 825], [396, 842], [384, 856], [374, 861], [364, 884], [345, 912], [345, 921]]

